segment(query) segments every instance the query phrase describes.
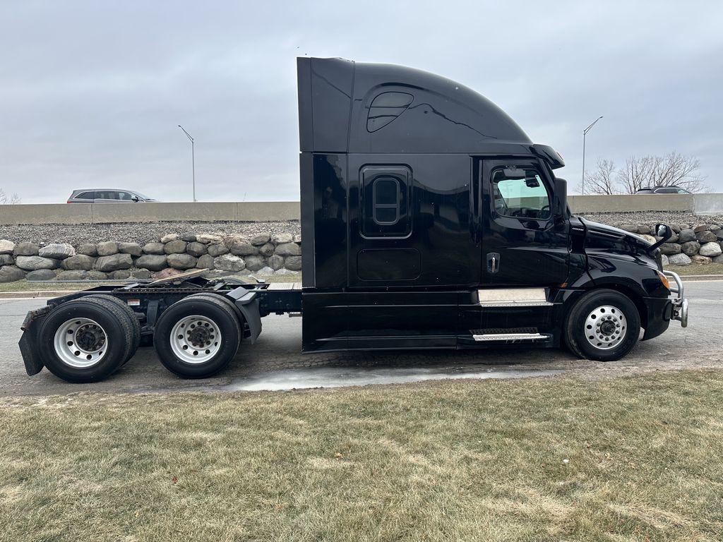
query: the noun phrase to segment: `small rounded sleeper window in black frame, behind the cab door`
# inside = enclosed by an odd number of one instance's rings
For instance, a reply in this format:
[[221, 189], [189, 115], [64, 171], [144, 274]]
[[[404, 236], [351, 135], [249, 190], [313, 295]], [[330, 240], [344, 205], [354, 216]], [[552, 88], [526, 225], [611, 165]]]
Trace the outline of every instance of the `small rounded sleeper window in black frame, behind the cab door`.
[[411, 233], [409, 168], [365, 165], [360, 173], [361, 235], [367, 238], [408, 236]]

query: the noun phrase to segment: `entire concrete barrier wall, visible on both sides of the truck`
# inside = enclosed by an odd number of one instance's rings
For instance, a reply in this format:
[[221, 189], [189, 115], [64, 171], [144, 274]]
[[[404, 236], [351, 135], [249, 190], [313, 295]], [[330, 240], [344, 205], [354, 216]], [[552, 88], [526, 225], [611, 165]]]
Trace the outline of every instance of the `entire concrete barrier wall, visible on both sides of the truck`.
[[[688, 211], [723, 214], [723, 194], [569, 196], [573, 212]], [[0, 224], [299, 220], [299, 202], [73, 203], [0, 205]]]

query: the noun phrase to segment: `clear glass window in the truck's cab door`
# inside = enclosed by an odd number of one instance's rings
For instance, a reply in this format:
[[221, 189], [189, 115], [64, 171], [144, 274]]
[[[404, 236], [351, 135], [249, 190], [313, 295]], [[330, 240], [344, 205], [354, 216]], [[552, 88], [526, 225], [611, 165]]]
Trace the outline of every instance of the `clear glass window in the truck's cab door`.
[[547, 219], [550, 216], [549, 194], [539, 173], [524, 170], [524, 178], [511, 178], [500, 168], [492, 173], [495, 211], [499, 215]]

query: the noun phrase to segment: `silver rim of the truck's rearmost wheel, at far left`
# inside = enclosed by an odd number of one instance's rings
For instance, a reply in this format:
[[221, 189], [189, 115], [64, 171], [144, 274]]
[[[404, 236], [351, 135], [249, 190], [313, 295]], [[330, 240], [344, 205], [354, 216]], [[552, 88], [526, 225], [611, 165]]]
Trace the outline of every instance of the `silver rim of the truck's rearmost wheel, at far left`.
[[87, 369], [100, 363], [108, 353], [108, 334], [90, 318], [66, 320], [55, 332], [56, 356], [75, 369]]

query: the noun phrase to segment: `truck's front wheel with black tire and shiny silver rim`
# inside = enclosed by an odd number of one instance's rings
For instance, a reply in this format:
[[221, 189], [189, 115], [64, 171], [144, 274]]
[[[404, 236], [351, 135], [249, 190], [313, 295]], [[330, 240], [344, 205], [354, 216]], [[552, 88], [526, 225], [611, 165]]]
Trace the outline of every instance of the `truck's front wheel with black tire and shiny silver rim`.
[[580, 358], [615, 361], [638, 343], [640, 314], [633, 301], [615, 290], [582, 296], [565, 318], [565, 343]]

